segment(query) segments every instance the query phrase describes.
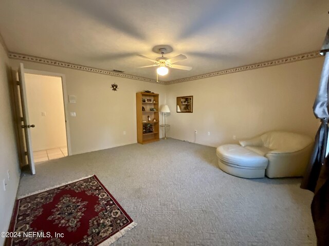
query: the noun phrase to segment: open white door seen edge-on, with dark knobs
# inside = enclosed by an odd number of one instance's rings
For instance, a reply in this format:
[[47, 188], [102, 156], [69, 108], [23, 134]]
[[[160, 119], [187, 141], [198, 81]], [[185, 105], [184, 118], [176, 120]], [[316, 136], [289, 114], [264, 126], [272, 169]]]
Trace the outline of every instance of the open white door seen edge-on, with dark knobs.
[[23, 124], [24, 125], [22, 125], [21, 121], [19, 124], [21, 124], [21, 128], [23, 128], [23, 130], [24, 130], [28, 165], [30, 167], [31, 173], [35, 174], [32, 142], [31, 142], [31, 128], [33, 128], [34, 125], [30, 125], [30, 121], [29, 121], [29, 112], [27, 109], [26, 87], [25, 87], [23, 63], [20, 64], [20, 68], [19, 68], [19, 86], [20, 86], [21, 105], [22, 105]]

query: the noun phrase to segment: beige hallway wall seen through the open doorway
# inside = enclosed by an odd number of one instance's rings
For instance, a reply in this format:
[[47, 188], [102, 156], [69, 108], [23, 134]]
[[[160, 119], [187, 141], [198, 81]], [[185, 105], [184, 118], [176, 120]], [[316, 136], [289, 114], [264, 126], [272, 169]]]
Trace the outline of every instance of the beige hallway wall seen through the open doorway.
[[[66, 146], [62, 78], [25, 74], [33, 151]], [[42, 115], [44, 113], [44, 115]]]

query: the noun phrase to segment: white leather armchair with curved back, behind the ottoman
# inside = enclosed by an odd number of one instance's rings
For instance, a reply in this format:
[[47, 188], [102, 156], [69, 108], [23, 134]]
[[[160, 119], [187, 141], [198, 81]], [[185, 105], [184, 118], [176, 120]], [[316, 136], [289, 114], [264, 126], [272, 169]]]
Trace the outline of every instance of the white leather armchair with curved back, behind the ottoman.
[[312, 138], [281, 131], [239, 142], [242, 147], [268, 159], [265, 174], [269, 178], [303, 176], [313, 148]]

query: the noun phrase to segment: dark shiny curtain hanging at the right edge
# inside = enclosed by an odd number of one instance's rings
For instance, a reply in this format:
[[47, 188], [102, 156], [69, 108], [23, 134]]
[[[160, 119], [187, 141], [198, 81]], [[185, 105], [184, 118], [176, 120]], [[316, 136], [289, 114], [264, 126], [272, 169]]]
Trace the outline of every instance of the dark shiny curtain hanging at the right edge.
[[301, 183], [302, 189], [314, 192], [311, 205], [318, 246], [329, 245], [329, 157], [325, 157], [328, 139], [328, 89], [329, 89], [329, 29], [321, 54], [325, 56], [319, 90], [314, 102], [315, 117], [321, 126], [314, 142], [314, 150]]

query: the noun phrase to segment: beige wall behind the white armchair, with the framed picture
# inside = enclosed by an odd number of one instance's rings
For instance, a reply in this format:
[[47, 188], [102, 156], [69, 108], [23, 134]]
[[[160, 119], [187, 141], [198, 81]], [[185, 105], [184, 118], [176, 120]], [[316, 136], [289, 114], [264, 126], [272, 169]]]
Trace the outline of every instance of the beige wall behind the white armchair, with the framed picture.
[[[196, 142], [213, 147], [269, 130], [314, 137], [319, 120], [312, 107], [322, 64], [315, 58], [169, 85], [168, 135], [194, 142], [197, 130]], [[176, 113], [176, 97], [188, 95], [193, 113]]]

